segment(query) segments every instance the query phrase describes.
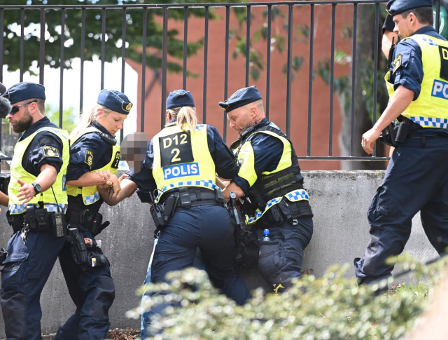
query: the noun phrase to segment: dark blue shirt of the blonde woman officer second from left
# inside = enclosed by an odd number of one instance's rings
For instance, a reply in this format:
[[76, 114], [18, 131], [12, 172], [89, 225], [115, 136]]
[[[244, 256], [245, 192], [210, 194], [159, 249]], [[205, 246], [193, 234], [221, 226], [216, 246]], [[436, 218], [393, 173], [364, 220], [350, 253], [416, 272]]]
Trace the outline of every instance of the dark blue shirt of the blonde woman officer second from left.
[[[94, 128], [104, 132], [110, 136], [109, 132], [103, 125], [98, 122], [93, 123]], [[113, 137], [113, 136], [112, 136]], [[85, 162], [85, 153], [91, 151], [93, 154], [92, 168]], [[79, 140], [71, 147], [69, 170], [67, 170], [67, 181], [76, 181], [85, 172], [103, 168], [112, 159], [111, 144], [102, 140], [97, 133], [87, 133], [80, 137]]]

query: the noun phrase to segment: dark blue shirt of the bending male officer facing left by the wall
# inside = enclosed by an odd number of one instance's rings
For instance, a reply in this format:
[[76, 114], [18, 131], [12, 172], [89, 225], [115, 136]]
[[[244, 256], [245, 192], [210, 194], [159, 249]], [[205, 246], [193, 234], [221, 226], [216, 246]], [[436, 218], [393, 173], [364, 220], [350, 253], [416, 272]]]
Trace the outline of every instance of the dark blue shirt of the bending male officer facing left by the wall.
[[[263, 118], [262, 123], [269, 123], [266, 118]], [[262, 172], [274, 171], [279, 166], [281, 155], [283, 154], [283, 143], [279, 138], [267, 135], [265, 133], [256, 133], [251, 135], [245, 141], [250, 141], [253, 149], [254, 168], [257, 177], [260, 177]], [[249, 189], [249, 182], [243, 177], [235, 177], [233, 182], [241, 188], [244, 193]]]

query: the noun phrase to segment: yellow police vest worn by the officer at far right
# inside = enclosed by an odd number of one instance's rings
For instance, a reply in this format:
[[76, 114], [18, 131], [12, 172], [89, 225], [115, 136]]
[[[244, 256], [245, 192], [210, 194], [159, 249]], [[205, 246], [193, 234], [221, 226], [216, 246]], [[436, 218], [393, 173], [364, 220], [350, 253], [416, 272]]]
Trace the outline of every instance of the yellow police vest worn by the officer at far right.
[[[448, 80], [440, 78], [442, 65], [448, 67], [448, 41], [425, 34], [416, 34], [412, 39], [421, 48], [424, 77], [419, 97], [402, 113], [423, 128], [448, 128]], [[402, 39], [405, 40], [405, 39]], [[393, 97], [393, 84], [387, 81], [389, 97]]]

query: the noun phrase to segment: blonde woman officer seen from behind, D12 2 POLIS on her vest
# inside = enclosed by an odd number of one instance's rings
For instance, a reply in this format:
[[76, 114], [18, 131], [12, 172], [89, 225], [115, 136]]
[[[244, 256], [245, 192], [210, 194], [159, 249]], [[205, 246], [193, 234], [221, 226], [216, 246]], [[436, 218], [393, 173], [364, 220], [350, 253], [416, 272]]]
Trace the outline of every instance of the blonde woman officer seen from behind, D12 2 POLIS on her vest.
[[[167, 98], [167, 125], [153, 137], [143, 169], [123, 180], [123, 188], [133, 186], [142, 202], [151, 202], [149, 192], [158, 192], [158, 204], [179, 198], [172, 217], [160, 229], [160, 238], [146, 283], [160, 283], [169, 271], [193, 266], [197, 247], [211, 282], [228, 297], [243, 304], [249, 297], [244, 282], [233, 269], [234, 226], [223, 206], [216, 173], [223, 178], [237, 175], [237, 161], [211, 125], [198, 124], [193, 96], [176, 90]], [[129, 185], [125, 182], [132, 181]], [[132, 192], [132, 190], [130, 191]], [[123, 196], [127, 196], [123, 189]], [[165, 205], [165, 208], [168, 205]], [[161, 292], [160, 294], [164, 294]], [[151, 336], [151, 315], [158, 306], [142, 315], [141, 338]]]

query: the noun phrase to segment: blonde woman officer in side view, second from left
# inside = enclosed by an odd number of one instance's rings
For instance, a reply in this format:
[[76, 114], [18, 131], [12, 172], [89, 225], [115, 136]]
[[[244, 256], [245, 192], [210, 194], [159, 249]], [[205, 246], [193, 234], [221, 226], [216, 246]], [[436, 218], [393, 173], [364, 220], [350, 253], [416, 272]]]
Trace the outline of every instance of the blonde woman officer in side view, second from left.
[[[85, 261], [76, 254], [78, 248], [67, 243], [59, 254], [62, 273], [71, 299], [76, 305], [75, 313], [59, 328], [55, 339], [105, 339], [110, 327], [109, 308], [115, 298], [109, 261], [94, 239], [109, 222], [99, 214], [104, 199], [97, 185], [108, 184], [114, 198], [120, 191], [116, 177], [120, 148], [115, 135], [123, 129], [123, 121], [132, 108], [128, 97], [117, 90], [102, 90], [97, 105], [83, 114], [80, 124], [71, 132], [71, 156], [67, 175], [69, 208], [66, 221], [70, 228], [77, 228], [80, 240], [92, 240], [86, 244]], [[109, 198], [109, 193], [105, 193]], [[72, 233], [72, 231], [71, 231]], [[90, 243], [90, 241], [87, 241]], [[81, 262], [81, 263], [79, 263]]]

